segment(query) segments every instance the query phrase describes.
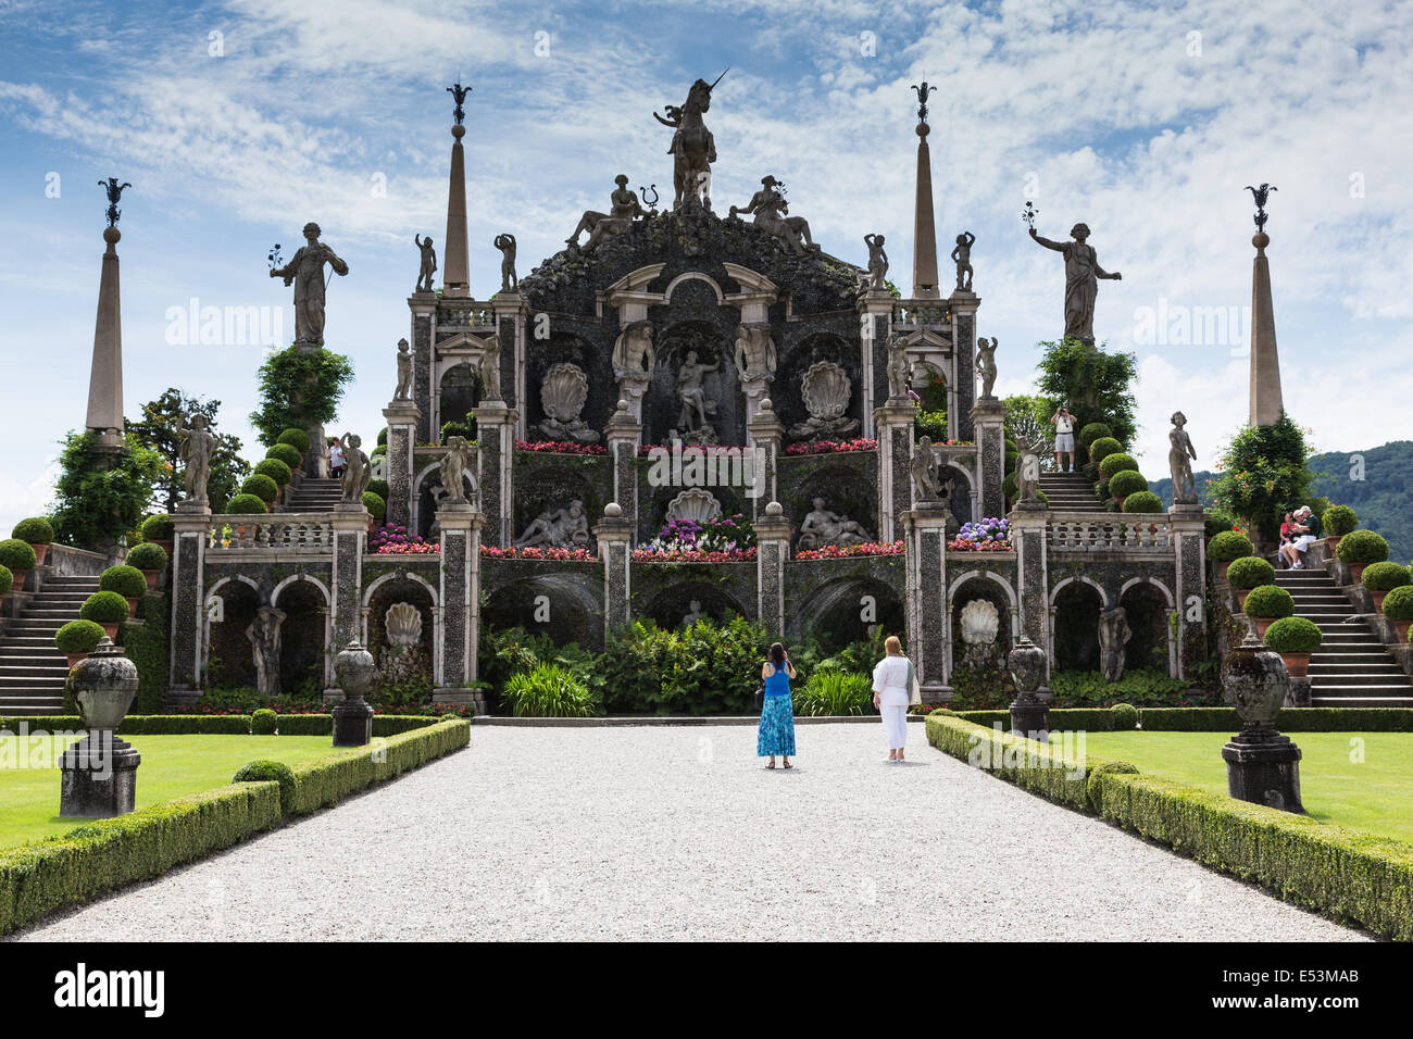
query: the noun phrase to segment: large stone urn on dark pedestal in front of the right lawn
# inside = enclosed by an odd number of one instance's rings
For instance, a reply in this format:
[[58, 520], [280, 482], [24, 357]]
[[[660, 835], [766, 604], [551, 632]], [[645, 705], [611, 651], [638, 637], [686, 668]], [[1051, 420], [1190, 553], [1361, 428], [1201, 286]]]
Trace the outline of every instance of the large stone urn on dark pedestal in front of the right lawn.
[[1279, 653], [1255, 635], [1222, 659], [1222, 695], [1236, 708], [1242, 729], [1222, 748], [1226, 792], [1236, 800], [1304, 813], [1300, 803], [1300, 748], [1276, 731], [1290, 676]]

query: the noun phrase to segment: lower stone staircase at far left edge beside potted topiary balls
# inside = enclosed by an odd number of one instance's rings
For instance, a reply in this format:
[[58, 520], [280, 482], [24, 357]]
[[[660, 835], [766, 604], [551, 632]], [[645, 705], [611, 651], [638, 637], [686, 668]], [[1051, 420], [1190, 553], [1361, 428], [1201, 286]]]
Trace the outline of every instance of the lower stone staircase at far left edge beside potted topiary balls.
[[96, 577], [51, 577], [0, 635], [0, 718], [61, 714], [69, 663], [54, 633], [76, 621]]

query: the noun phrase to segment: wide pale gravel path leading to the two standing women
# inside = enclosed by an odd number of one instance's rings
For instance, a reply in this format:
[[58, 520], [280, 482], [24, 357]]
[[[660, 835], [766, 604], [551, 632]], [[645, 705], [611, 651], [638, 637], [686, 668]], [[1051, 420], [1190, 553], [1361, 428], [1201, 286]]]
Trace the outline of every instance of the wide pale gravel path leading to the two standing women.
[[42, 940], [1340, 940], [930, 748], [810, 725], [473, 727], [468, 751], [57, 917]]

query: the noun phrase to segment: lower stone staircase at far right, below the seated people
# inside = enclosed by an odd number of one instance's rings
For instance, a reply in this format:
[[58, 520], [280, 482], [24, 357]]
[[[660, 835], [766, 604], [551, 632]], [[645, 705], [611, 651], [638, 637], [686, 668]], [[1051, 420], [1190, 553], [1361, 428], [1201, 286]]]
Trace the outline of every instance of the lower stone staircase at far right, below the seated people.
[[1413, 707], [1413, 679], [1324, 570], [1277, 570], [1276, 584], [1314, 621], [1324, 642], [1310, 657], [1311, 707]]

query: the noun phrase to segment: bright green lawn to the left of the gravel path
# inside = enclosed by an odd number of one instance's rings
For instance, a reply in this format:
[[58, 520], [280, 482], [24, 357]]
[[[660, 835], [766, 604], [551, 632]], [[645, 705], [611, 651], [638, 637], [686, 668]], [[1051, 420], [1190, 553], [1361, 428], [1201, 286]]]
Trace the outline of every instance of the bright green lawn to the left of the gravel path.
[[[42, 742], [41, 742], [42, 739]], [[0, 738], [0, 848], [62, 834], [88, 820], [59, 817], [62, 736]], [[242, 765], [273, 758], [297, 765], [333, 752], [328, 736], [133, 736], [143, 755], [137, 807], [225, 786]]]

